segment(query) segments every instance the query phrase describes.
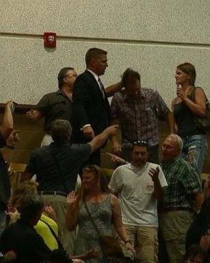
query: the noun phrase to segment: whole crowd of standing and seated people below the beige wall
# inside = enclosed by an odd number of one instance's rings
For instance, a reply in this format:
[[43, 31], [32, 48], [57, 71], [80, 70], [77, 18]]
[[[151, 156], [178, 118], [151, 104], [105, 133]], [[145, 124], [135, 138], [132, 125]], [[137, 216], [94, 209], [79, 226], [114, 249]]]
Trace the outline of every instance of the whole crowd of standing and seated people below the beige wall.
[[[132, 68], [105, 88], [100, 76], [107, 66], [107, 51], [89, 49], [86, 71], [62, 68], [58, 90], [26, 113], [33, 121], [44, 118], [45, 134], [29, 158], [26, 181], [12, 193], [0, 155], [2, 262], [209, 262], [210, 180], [205, 195], [201, 181], [208, 145], [194, 120], [205, 116], [207, 98], [195, 86], [194, 65], [176, 67], [172, 110], [157, 90], [142, 88]], [[20, 139], [11, 105], [5, 104], [0, 127], [6, 151]], [[159, 119], [169, 128], [161, 162]], [[100, 167], [107, 140], [116, 162], [108, 181]], [[107, 257], [103, 236], [118, 240], [124, 258]]]

